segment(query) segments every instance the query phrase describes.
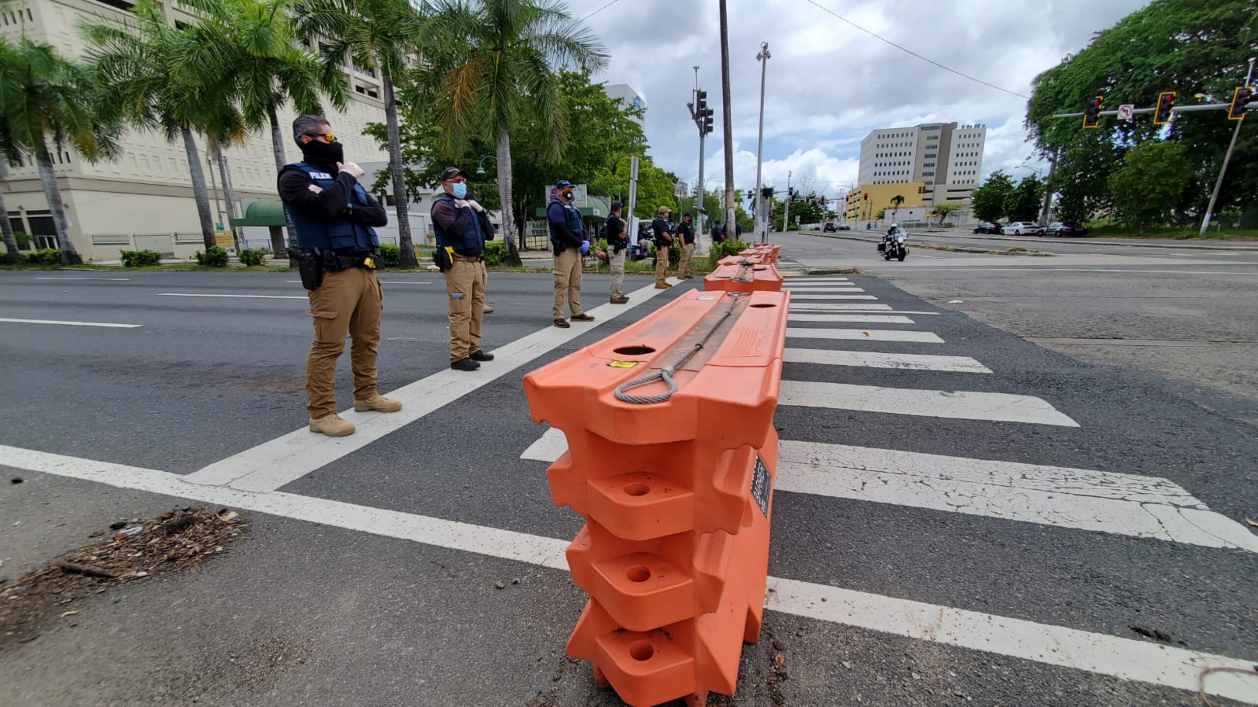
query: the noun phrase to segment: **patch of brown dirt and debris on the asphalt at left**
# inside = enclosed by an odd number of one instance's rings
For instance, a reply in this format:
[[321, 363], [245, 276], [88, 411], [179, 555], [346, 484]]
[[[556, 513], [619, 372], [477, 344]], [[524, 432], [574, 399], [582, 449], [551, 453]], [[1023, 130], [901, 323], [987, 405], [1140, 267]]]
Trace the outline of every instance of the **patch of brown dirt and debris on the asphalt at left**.
[[93, 531], [102, 540], [0, 585], [0, 652], [35, 640], [49, 620], [74, 623], [79, 599], [199, 565], [247, 530], [234, 511], [189, 506]]

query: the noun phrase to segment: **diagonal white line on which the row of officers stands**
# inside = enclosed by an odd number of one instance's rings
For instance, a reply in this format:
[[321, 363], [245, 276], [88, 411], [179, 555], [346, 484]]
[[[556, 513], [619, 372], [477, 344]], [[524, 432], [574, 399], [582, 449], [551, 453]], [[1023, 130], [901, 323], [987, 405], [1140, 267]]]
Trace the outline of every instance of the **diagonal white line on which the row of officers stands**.
[[594, 330], [594, 326], [633, 311], [635, 306], [662, 292], [665, 291], [648, 286], [630, 293], [633, 304], [629, 307], [615, 304], [595, 307], [589, 312], [595, 317], [595, 325], [591, 326], [576, 323], [566, 330], [546, 327], [517, 338], [493, 350], [494, 360], [482, 364], [479, 371], [469, 374], [445, 369], [386, 392], [386, 396], [401, 400], [403, 409], [399, 413], [356, 413], [350, 408], [341, 413], [342, 418], [359, 428], [350, 437], [330, 438], [312, 433], [303, 425], [283, 437], [215, 462], [189, 474], [187, 478], [194, 483], [230, 484], [245, 491], [281, 488], [498, 380], [528, 361]]

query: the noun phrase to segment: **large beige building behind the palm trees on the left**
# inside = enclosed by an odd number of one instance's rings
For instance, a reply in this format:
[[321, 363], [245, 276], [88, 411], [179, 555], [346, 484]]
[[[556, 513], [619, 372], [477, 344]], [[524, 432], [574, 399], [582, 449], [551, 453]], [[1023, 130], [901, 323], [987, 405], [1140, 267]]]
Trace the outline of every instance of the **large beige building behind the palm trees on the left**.
[[[86, 23], [120, 23], [126, 19], [127, 0], [18, 0], [0, 5], [0, 33], [15, 39], [25, 33], [48, 43], [63, 55], [81, 57], [86, 45], [79, 26]], [[180, 3], [167, 3], [171, 23], [195, 23], [195, 15]], [[362, 135], [369, 122], [384, 122], [380, 79], [375, 72], [346, 67], [353, 97], [345, 112], [325, 104], [346, 157], [355, 162], [387, 161], [375, 140]], [[296, 114], [279, 114], [284, 150], [289, 161], [301, 159], [289, 126]], [[201, 167], [210, 189], [214, 220], [228, 223], [228, 205], [221, 196], [221, 179], [206, 157], [205, 142], [198, 138]], [[182, 142], [167, 142], [160, 133], [130, 131], [116, 161], [89, 164], [63, 150], [55, 155], [57, 180], [65, 200], [70, 238], [86, 259], [117, 259], [123, 249], [150, 248], [186, 258], [204, 248], [200, 220], [192, 200], [191, 176]], [[243, 215], [257, 200], [277, 200], [276, 161], [269, 128], [255, 131], [240, 147], [225, 150], [229, 179], [235, 187], [235, 213]], [[36, 245], [55, 245], [53, 219], [44, 199], [34, 161], [9, 165], [5, 205], [14, 229], [33, 235]], [[257, 211], [257, 209], [255, 209]], [[426, 213], [426, 211], [425, 211]], [[262, 226], [243, 229], [249, 247], [269, 245]]]

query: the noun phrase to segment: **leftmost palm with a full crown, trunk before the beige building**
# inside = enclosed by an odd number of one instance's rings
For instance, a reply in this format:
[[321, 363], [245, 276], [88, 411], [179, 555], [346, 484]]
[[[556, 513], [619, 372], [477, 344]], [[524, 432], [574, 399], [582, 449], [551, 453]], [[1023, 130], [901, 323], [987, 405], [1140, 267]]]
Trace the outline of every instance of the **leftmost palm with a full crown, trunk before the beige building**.
[[[58, 153], [70, 143], [87, 160], [113, 155], [116, 133], [98, 121], [92, 103], [93, 87], [81, 65], [26, 36], [16, 44], [0, 38], [0, 156], [13, 162], [33, 156], [39, 165], [64, 264], [82, 263], [83, 258], [69, 237], [48, 143], [50, 140]], [[9, 238], [6, 234], [6, 245]]]

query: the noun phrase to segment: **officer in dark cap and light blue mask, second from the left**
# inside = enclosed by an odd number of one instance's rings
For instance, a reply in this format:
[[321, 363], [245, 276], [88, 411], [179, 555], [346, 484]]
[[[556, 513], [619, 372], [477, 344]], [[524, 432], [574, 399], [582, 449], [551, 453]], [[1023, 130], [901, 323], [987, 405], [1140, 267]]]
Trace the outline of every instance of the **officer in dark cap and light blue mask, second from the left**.
[[445, 276], [449, 294], [450, 367], [474, 371], [493, 353], [481, 350], [481, 316], [484, 313], [484, 243], [493, 240], [493, 224], [484, 206], [468, 198], [467, 175], [458, 167], [442, 172], [443, 192], [433, 201], [433, 230], [437, 247], [448, 258], [438, 267]]

